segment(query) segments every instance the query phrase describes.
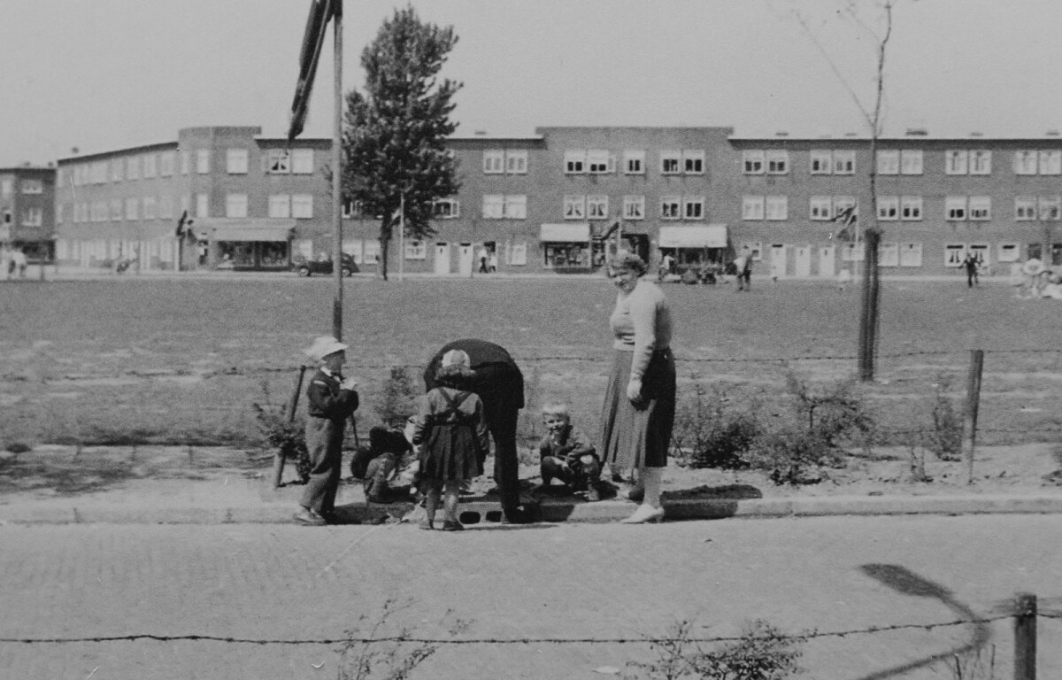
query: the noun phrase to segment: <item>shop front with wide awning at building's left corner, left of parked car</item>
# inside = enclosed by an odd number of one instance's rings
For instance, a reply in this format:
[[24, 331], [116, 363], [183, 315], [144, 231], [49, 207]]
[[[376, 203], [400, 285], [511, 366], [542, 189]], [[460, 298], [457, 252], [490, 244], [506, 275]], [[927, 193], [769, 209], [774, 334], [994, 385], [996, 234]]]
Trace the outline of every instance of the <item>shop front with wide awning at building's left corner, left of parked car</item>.
[[205, 262], [217, 269], [276, 271], [291, 266], [294, 220], [203, 219], [196, 235], [206, 240]]

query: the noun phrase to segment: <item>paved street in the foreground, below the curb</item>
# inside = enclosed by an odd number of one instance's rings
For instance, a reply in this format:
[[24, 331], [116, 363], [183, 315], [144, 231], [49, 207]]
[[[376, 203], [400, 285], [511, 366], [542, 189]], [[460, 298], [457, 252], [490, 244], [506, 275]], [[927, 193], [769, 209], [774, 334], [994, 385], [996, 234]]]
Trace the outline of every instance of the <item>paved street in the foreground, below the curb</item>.
[[[816, 631], [803, 646], [806, 677], [893, 677], [904, 665], [913, 666], [908, 678], [954, 677], [940, 663], [920, 664], [981, 636], [982, 663], [994, 645], [997, 677], [1008, 678], [1007, 600], [1024, 591], [1041, 598], [1042, 612], [1058, 607], [1060, 539], [1062, 525], [1047, 515], [493, 525], [463, 533], [7, 525], [0, 638], [238, 641], [3, 642], [0, 675], [336, 678], [349, 663], [338, 643], [278, 641], [408, 628], [413, 638], [537, 641], [443, 644], [414, 678], [600, 678], [596, 668], [654, 656], [640, 642], [546, 641], [666, 636], [681, 620], [696, 620], [695, 636], [723, 638], [764, 618], [787, 634]], [[921, 627], [976, 617], [996, 620]], [[1058, 619], [1038, 624], [1041, 677], [1051, 677], [1062, 669], [1062, 630]], [[274, 642], [243, 642], [266, 640]]]

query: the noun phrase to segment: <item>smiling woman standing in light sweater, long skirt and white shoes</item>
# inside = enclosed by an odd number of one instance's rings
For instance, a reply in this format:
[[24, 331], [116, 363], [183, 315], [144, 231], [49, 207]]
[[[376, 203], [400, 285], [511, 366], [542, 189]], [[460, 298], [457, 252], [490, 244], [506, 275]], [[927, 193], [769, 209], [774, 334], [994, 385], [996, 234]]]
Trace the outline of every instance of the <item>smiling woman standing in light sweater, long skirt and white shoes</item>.
[[638, 469], [645, 496], [623, 523], [660, 522], [661, 476], [674, 424], [671, 312], [664, 291], [645, 277], [640, 257], [620, 253], [610, 265], [619, 293], [609, 318], [616, 352], [601, 413], [602, 462]]

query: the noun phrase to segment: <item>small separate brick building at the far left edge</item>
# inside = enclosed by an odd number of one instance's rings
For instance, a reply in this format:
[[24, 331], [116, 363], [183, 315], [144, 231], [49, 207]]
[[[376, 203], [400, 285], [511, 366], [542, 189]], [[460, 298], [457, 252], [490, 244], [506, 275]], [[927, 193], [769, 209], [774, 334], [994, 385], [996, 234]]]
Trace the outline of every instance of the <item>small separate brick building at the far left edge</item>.
[[0, 168], [0, 244], [30, 260], [50, 260], [54, 210], [55, 168]]

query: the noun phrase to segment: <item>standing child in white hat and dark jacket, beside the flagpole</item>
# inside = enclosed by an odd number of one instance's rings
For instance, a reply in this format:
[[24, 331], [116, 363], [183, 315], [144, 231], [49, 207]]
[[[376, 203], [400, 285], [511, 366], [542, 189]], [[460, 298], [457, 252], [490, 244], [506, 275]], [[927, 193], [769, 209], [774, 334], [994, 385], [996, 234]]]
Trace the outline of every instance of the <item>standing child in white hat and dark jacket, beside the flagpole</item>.
[[331, 336], [321, 336], [306, 350], [318, 361], [316, 373], [306, 389], [308, 418], [306, 447], [310, 454], [310, 480], [303, 491], [295, 521], [307, 525], [327, 524], [336, 508], [340, 471], [343, 465], [343, 430], [358, 408], [358, 382], [344, 378], [346, 348]]

